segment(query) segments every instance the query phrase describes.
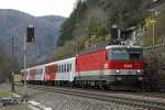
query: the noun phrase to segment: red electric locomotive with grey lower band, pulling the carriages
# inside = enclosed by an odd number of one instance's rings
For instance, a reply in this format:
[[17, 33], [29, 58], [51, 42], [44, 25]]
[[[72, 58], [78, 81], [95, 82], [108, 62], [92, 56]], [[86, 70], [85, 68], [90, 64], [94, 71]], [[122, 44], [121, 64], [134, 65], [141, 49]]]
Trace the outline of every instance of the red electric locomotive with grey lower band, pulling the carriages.
[[76, 57], [76, 85], [140, 87], [144, 61], [140, 46], [110, 45]]

